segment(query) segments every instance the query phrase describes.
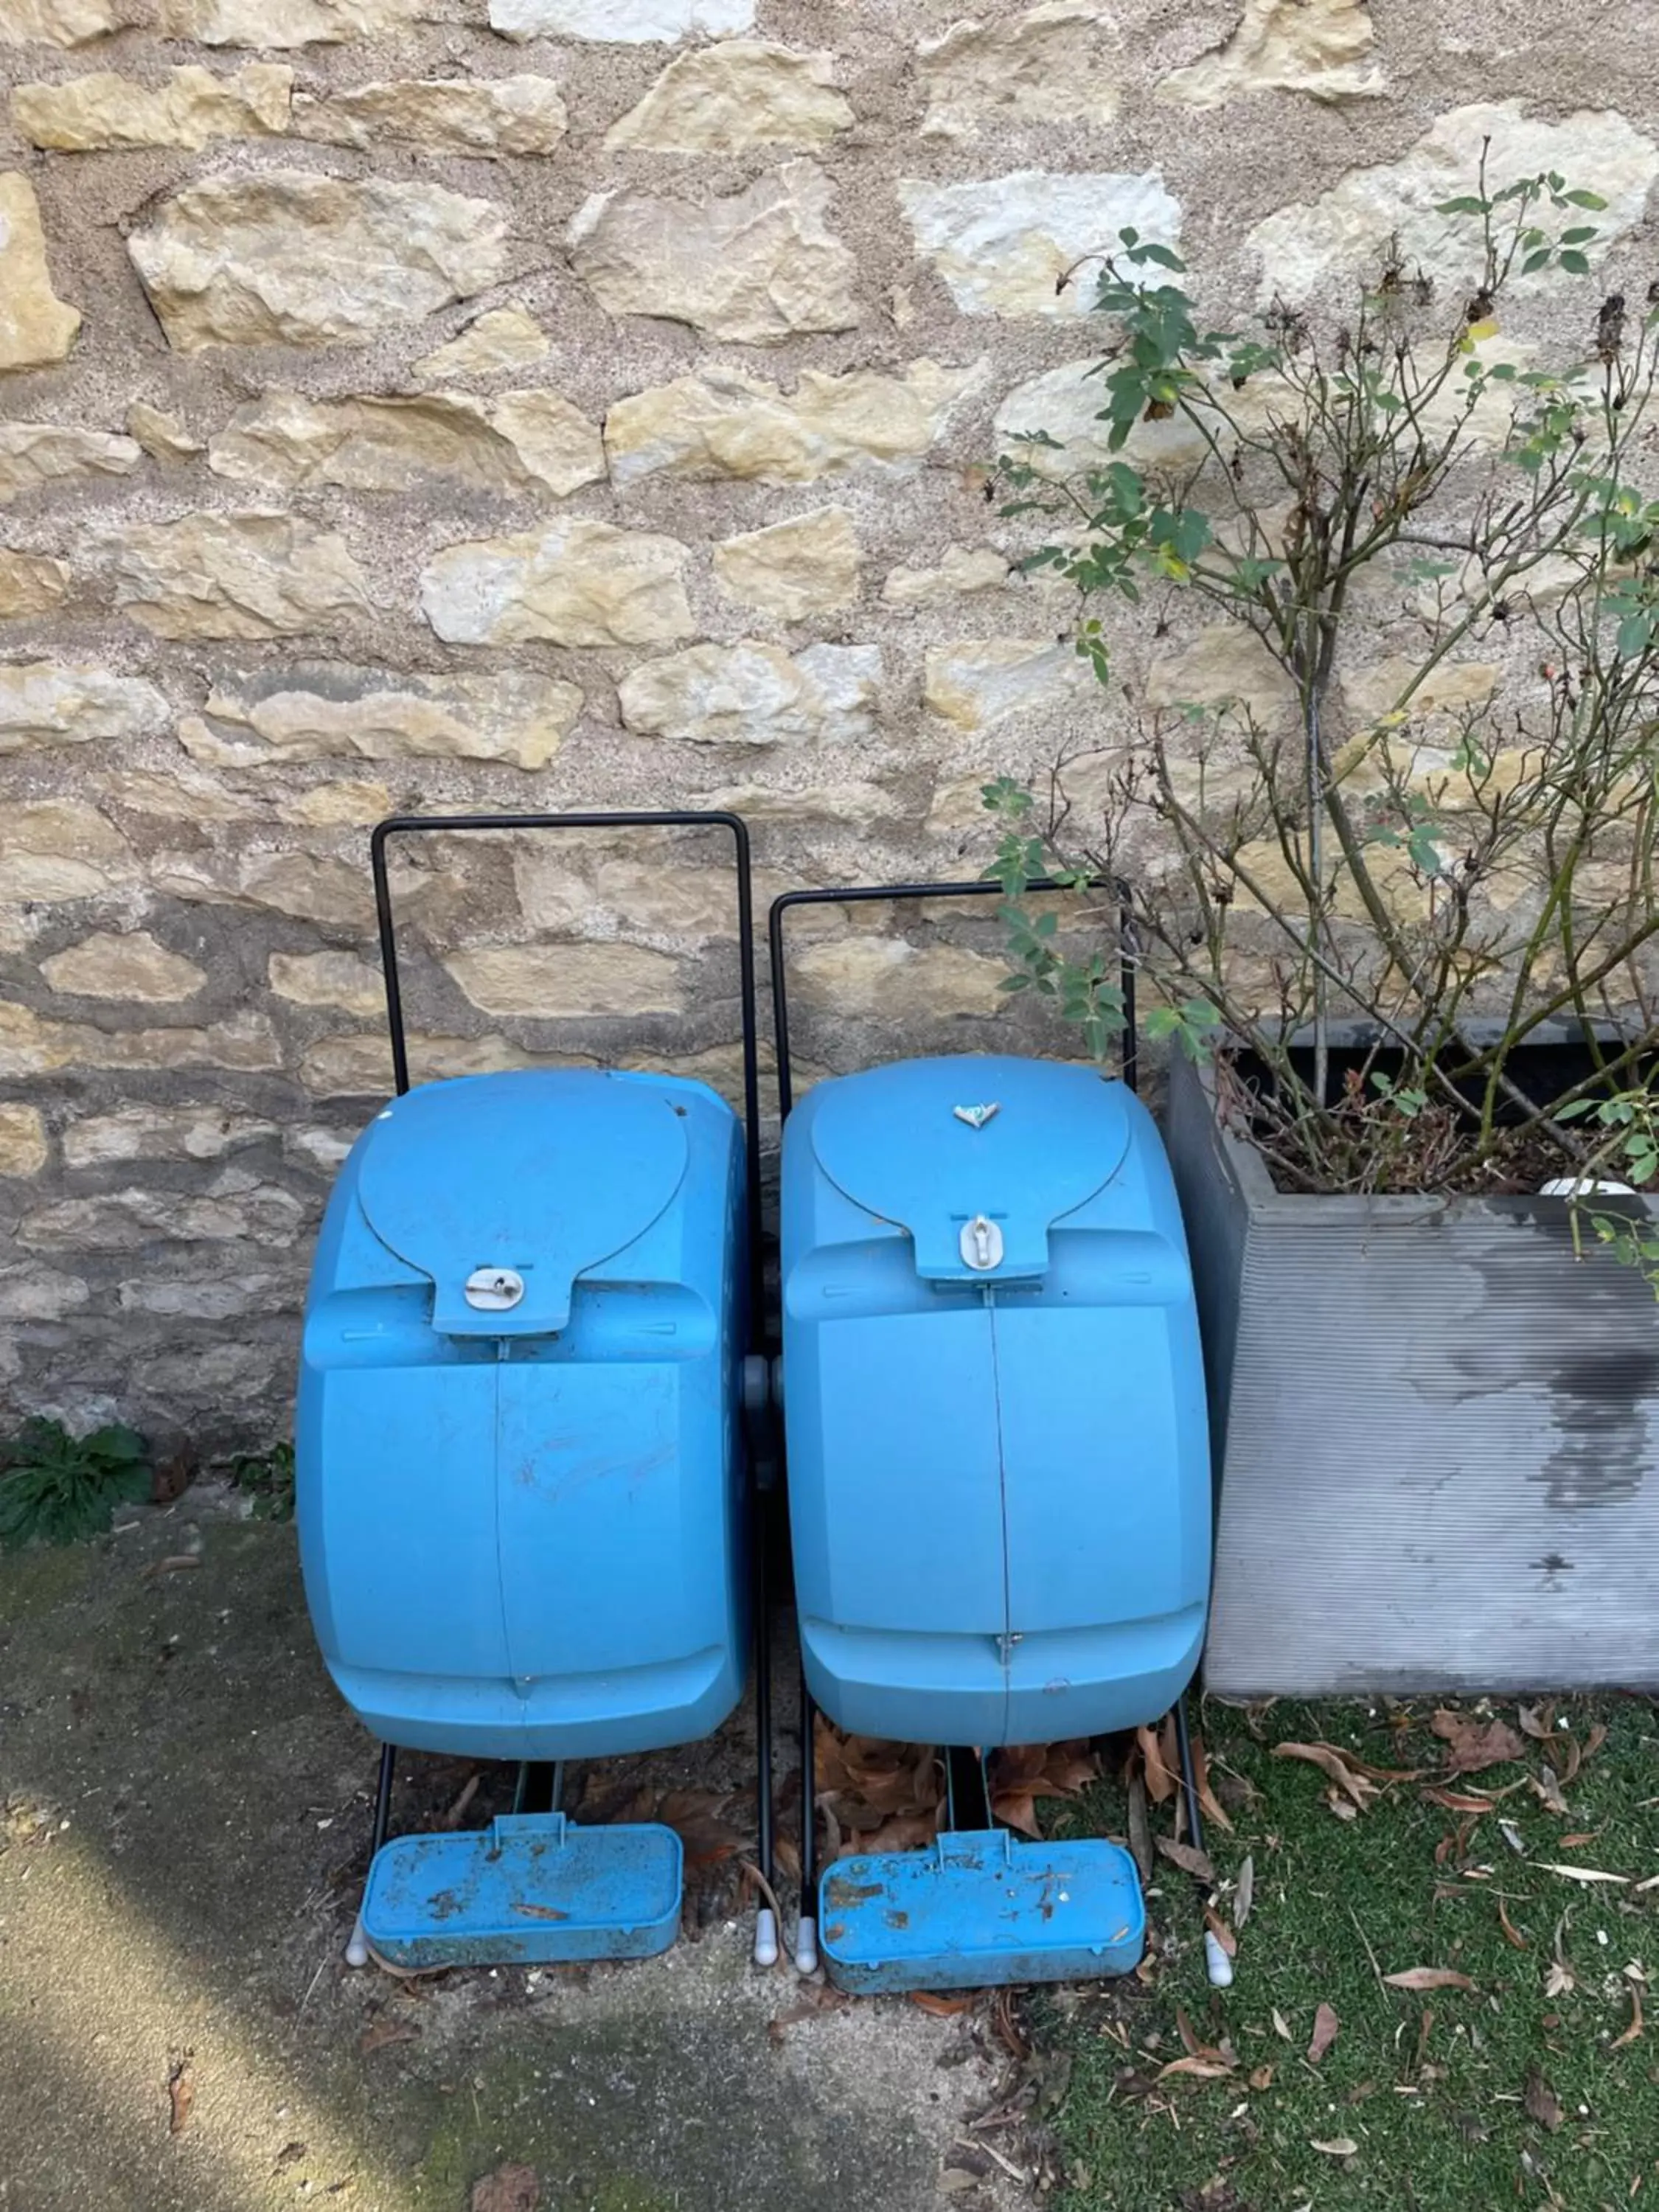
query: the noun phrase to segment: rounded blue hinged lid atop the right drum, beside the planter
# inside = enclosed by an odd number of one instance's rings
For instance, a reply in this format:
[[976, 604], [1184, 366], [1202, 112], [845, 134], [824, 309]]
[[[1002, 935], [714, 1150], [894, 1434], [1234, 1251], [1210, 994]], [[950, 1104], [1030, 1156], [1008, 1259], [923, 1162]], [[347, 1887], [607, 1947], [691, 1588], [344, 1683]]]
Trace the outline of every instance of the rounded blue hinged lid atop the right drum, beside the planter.
[[[1042, 1274], [1048, 1228], [1128, 1150], [1119, 1084], [1057, 1060], [898, 1060], [825, 1086], [812, 1146], [830, 1181], [909, 1230], [929, 1281]], [[995, 1232], [975, 1259], [973, 1225]]]

